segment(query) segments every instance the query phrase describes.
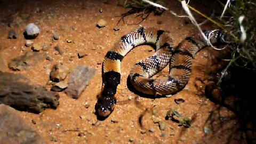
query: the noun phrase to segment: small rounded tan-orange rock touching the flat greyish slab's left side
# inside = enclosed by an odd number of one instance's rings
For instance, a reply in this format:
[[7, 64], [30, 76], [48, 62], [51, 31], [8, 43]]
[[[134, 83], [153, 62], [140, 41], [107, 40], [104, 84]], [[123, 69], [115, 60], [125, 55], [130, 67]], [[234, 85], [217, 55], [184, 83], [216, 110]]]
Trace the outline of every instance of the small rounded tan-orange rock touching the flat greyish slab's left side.
[[69, 68], [59, 64], [53, 65], [50, 72], [50, 79], [53, 82], [63, 81], [68, 75]]

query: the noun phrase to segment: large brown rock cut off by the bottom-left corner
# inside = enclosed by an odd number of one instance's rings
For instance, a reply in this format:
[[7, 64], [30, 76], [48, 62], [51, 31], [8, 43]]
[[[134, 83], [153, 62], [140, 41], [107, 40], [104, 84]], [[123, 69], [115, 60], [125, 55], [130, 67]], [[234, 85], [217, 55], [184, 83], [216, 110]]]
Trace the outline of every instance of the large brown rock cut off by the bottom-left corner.
[[19, 111], [0, 105], [0, 143], [46, 143], [23, 119]]

